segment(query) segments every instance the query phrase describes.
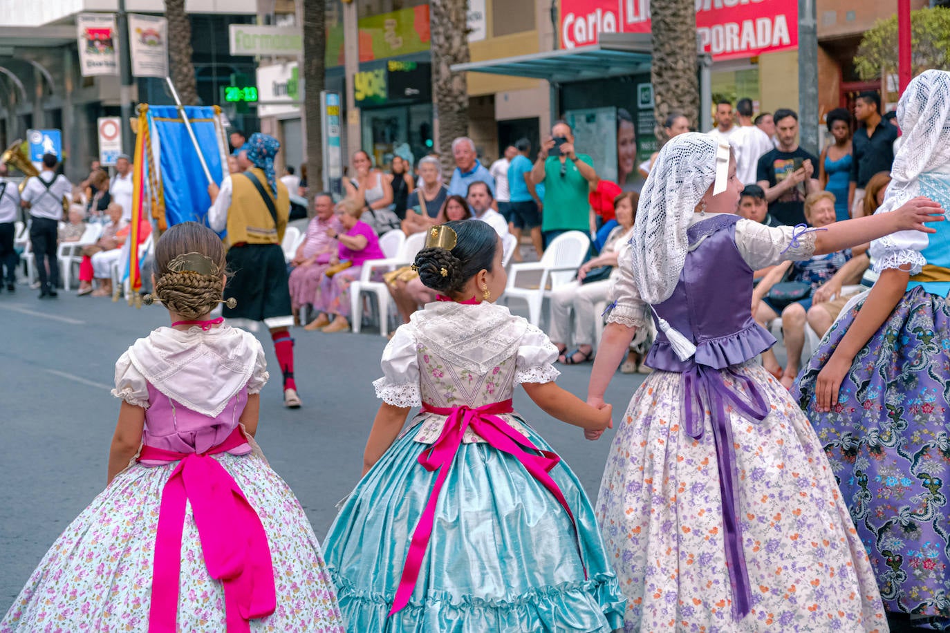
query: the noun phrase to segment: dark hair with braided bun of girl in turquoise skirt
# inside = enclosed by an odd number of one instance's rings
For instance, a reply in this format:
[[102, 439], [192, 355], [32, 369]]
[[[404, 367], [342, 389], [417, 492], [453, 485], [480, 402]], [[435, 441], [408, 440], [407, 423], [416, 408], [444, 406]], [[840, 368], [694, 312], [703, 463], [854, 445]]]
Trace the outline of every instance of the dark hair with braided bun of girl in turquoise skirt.
[[446, 226], [457, 236], [455, 247], [451, 251], [425, 248], [416, 255], [415, 267], [427, 288], [451, 297], [459, 294], [480, 270], [492, 270], [498, 233], [476, 219], [455, 220]]

